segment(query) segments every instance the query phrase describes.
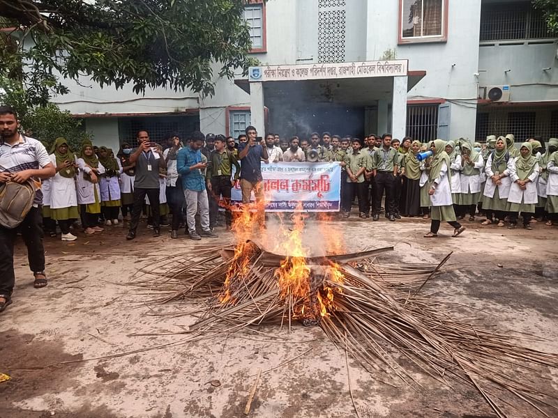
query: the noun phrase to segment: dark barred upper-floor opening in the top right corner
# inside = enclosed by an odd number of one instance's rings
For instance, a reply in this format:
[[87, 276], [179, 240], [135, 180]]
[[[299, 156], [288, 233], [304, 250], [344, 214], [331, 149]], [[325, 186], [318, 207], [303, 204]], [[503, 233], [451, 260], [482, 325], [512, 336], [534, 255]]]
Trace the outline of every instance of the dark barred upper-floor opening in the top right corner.
[[548, 31], [543, 14], [531, 7], [531, 3], [499, 4], [483, 3], [481, 9], [481, 42], [492, 40], [522, 40], [555, 38]]

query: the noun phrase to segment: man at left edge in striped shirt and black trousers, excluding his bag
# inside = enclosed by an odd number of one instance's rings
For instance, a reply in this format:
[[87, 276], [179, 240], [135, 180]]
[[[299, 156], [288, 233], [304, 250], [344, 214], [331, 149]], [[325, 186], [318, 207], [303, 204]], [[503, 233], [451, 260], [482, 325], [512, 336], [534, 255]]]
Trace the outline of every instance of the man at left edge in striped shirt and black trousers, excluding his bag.
[[[15, 110], [0, 106], [0, 183], [25, 183], [33, 178], [50, 178], [56, 173], [45, 146], [18, 132], [20, 127]], [[33, 207], [23, 222], [14, 229], [0, 226], [0, 312], [12, 303], [15, 285], [13, 245], [18, 232], [27, 247], [29, 268], [33, 272], [36, 288], [47, 286], [45, 249], [41, 209], [43, 194], [37, 190]]]

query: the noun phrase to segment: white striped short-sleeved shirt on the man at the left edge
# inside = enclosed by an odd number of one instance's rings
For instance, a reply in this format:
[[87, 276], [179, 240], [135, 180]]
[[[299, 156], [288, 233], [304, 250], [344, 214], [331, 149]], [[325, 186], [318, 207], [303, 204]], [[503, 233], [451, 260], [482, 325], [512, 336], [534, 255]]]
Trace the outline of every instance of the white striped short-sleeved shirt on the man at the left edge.
[[[34, 138], [20, 135], [20, 141], [13, 145], [0, 142], [0, 171], [17, 173], [24, 170], [38, 170], [50, 163], [45, 146]], [[33, 205], [42, 203], [43, 193], [37, 190]]]

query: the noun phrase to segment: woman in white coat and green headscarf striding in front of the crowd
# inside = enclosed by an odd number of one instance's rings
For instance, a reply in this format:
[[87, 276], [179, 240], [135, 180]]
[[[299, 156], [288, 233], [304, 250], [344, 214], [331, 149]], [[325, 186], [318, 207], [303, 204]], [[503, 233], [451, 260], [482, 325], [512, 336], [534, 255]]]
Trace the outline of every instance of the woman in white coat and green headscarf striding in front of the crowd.
[[446, 221], [453, 226], [453, 237], [457, 237], [465, 231], [465, 227], [461, 226], [455, 219], [453, 200], [451, 199], [450, 160], [445, 148], [446, 141], [443, 139], [430, 142], [430, 150], [434, 154], [428, 174], [430, 187], [428, 194], [430, 195], [430, 217], [432, 221], [430, 222], [430, 232], [424, 235], [425, 238], [437, 237], [442, 221]]

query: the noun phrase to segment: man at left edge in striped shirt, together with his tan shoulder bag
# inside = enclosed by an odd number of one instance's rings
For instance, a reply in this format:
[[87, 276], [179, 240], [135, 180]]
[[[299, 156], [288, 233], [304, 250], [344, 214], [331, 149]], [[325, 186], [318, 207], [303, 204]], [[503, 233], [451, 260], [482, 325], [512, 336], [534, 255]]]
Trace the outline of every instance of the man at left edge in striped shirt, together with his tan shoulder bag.
[[[18, 128], [15, 110], [0, 106], [0, 195], [3, 195], [0, 199], [0, 312], [12, 303], [13, 246], [18, 231], [27, 247], [33, 286], [47, 286], [40, 215], [43, 194], [34, 180], [50, 178], [56, 169], [45, 146], [36, 139], [24, 137]], [[22, 187], [18, 189], [15, 184]]]

